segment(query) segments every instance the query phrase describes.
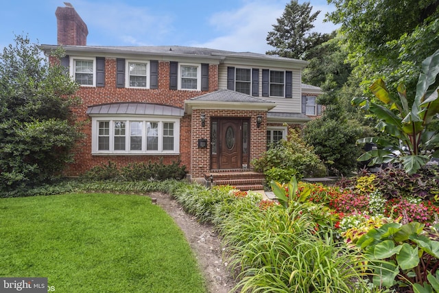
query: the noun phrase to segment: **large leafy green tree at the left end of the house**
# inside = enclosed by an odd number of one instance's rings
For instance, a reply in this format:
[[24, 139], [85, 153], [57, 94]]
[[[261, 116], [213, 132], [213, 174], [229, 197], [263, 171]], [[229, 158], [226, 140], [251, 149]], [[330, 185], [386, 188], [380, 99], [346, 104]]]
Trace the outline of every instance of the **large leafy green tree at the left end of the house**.
[[[54, 52], [61, 57], [62, 50]], [[42, 183], [71, 161], [81, 135], [70, 106], [78, 85], [27, 36], [0, 54], [0, 189]]]

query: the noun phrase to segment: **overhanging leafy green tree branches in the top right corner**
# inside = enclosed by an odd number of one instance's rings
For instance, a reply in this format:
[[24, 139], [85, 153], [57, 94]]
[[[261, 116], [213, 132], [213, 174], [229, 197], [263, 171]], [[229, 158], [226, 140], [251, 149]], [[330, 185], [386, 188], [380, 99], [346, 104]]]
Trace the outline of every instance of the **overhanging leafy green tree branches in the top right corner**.
[[[354, 74], [361, 88], [386, 77], [389, 86], [404, 82], [416, 89], [416, 73], [439, 47], [438, 0], [329, 0], [329, 20], [341, 24]], [[409, 93], [414, 97], [414, 93]], [[413, 101], [410, 101], [413, 102]]]

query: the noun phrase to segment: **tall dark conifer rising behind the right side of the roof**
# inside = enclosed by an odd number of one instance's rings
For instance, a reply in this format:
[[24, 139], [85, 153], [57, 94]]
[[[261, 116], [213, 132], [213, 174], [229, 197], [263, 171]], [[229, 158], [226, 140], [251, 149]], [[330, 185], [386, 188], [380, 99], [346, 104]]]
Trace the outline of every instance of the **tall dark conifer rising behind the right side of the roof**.
[[299, 4], [292, 0], [285, 6], [281, 18], [273, 25], [274, 31], [267, 36], [268, 45], [276, 49], [267, 51], [268, 55], [278, 55], [287, 58], [304, 59], [309, 49], [329, 40], [329, 34], [309, 32], [313, 29], [320, 10], [311, 14], [309, 2]]

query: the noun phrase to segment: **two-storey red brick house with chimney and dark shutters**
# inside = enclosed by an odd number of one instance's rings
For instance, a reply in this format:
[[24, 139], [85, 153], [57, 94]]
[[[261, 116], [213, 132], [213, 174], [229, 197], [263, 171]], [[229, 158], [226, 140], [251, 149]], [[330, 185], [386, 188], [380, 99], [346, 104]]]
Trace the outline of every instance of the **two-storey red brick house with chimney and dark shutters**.
[[[95, 165], [180, 160], [191, 180], [249, 170], [289, 126], [320, 114], [320, 88], [301, 83], [303, 60], [181, 46], [87, 46], [88, 29], [66, 3], [56, 10], [60, 60], [80, 84], [86, 139], [68, 173]], [[51, 60], [53, 62], [54, 60]]]

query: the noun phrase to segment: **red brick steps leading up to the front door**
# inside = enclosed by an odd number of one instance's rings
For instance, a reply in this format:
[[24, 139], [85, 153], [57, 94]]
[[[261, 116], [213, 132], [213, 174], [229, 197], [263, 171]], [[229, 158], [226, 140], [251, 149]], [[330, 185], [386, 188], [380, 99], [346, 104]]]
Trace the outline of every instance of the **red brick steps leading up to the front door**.
[[215, 185], [231, 185], [242, 191], [263, 190], [265, 176], [248, 169], [211, 170], [204, 174], [209, 187]]

